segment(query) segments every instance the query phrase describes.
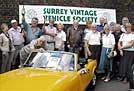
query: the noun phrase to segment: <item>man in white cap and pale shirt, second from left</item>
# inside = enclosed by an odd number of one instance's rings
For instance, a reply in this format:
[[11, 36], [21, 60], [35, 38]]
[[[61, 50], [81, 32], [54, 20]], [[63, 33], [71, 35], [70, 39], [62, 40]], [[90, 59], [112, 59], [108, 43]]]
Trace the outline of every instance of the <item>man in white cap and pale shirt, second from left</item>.
[[15, 67], [18, 54], [21, 48], [24, 46], [24, 37], [23, 32], [21, 32], [21, 28], [18, 26], [18, 22], [16, 20], [11, 21], [12, 27], [9, 29], [8, 33], [12, 37], [13, 45], [15, 47], [15, 55], [14, 55], [14, 62], [12, 62], [12, 68]]

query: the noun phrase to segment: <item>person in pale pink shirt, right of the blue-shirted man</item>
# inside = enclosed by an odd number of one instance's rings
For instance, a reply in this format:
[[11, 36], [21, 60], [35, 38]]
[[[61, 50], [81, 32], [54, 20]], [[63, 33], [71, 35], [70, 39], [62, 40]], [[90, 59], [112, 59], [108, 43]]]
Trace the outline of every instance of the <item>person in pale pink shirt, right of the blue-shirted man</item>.
[[57, 33], [56, 27], [54, 27], [54, 20], [49, 20], [49, 25], [45, 26], [43, 25], [42, 30], [45, 33], [45, 38], [47, 41], [47, 49], [48, 50], [54, 50], [55, 48], [55, 37]]

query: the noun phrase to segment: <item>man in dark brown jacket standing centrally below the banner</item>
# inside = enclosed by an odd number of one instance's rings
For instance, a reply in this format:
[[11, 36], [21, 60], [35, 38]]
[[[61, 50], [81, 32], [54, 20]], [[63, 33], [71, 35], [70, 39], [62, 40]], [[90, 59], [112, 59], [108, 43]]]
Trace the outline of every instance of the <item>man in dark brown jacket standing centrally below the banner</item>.
[[79, 22], [74, 20], [73, 25], [67, 29], [67, 44], [70, 52], [78, 53], [83, 46], [83, 30]]

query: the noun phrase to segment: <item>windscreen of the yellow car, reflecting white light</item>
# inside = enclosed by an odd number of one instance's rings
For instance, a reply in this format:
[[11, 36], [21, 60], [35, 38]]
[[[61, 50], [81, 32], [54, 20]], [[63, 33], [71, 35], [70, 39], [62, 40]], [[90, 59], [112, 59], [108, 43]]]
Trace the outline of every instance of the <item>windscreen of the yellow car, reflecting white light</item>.
[[54, 70], [73, 71], [74, 55], [61, 52], [33, 52], [26, 64], [34, 68], [49, 68]]

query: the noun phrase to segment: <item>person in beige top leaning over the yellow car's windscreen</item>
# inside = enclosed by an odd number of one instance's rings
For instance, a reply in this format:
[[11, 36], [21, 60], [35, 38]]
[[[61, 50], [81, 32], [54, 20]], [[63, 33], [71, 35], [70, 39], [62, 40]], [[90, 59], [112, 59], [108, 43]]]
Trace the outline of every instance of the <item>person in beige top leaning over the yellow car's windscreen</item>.
[[46, 42], [45, 42], [45, 37], [41, 36], [38, 39], [32, 40], [30, 42], [30, 44], [24, 46], [21, 50], [20, 50], [20, 64], [23, 64], [28, 55], [32, 52], [32, 51], [44, 51], [44, 49], [46, 49]]

